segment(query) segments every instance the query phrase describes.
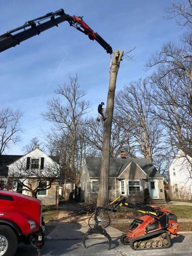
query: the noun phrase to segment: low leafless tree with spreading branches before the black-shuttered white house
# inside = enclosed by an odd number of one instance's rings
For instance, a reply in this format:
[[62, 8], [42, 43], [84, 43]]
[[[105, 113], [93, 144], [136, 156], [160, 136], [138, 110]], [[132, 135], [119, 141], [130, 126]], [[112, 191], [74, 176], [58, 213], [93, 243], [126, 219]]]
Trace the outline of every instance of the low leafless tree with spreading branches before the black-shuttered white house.
[[8, 171], [8, 189], [17, 189], [18, 184], [21, 185], [21, 190], [26, 190], [31, 193], [31, 196], [37, 197], [39, 191], [48, 190], [51, 185], [60, 180], [60, 165], [57, 163], [44, 164], [43, 170], [40, 168], [27, 169], [26, 161], [20, 160], [13, 163], [13, 166]]

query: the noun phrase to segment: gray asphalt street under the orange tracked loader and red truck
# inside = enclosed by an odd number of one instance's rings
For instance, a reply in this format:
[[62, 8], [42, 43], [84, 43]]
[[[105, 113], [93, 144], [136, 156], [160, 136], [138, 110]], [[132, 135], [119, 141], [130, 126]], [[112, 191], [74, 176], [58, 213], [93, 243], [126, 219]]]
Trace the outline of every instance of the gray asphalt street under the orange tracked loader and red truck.
[[[128, 245], [123, 245], [119, 238], [113, 239], [111, 249], [108, 250], [108, 242], [105, 239], [88, 239], [87, 249], [82, 246], [81, 240], [46, 240], [41, 256], [90, 256], [90, 255], [110, 255], [128, 256], [142, 255], [148, 256], [149, 250], [134, 251]], [[167, 249], [150, 250], [151, 255], [190, 255], [192, 256], [192, 234], [180, 235], [172, 239], [171, 247]], [[36, 250], [31, 245], [20, 244], [15, 256], [36, 256]]]

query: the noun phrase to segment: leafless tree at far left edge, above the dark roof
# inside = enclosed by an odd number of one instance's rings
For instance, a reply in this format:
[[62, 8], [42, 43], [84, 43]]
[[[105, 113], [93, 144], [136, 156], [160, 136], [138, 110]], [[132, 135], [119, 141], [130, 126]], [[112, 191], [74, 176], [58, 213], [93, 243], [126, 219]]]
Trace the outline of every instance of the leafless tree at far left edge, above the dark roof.
[[21, 110], [14, 111], [10, 107], [0, 110], [0, 155], [20, 141], [22, 116]]

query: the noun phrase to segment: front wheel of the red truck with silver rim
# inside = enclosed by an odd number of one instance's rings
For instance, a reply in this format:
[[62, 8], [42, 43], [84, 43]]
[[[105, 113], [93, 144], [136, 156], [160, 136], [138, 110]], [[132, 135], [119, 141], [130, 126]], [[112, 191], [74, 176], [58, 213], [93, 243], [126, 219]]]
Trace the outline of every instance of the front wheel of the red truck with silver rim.
[[17, 251], [18, 237], [12, 228], [0, 225], [0, 256], [13, 256]]

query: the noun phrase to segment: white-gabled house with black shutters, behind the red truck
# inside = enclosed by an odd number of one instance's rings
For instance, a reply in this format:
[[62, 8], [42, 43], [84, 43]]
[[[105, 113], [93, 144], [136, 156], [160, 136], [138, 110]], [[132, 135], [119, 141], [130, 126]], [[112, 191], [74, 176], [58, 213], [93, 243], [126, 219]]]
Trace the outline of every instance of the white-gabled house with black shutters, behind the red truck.
[[37, 197], [59, 193], [60, 174], [58, 159], [43, 153], [38, 145], [23, 156], [0, 156], [1, 180], [9, 190], [30, 196], [34, 191]]

